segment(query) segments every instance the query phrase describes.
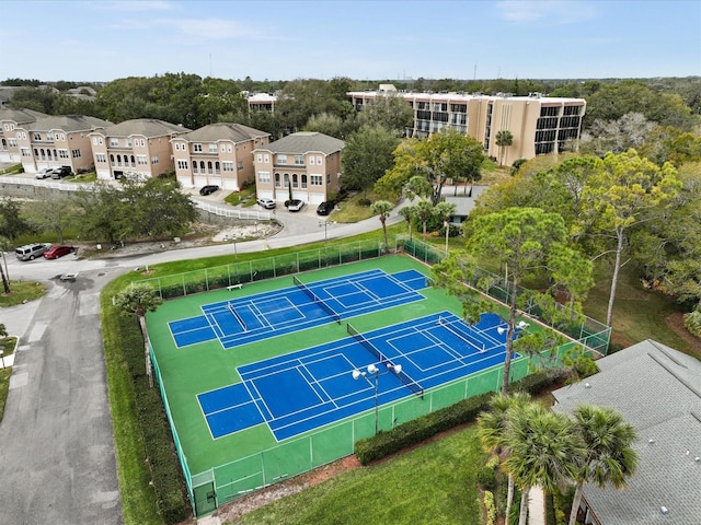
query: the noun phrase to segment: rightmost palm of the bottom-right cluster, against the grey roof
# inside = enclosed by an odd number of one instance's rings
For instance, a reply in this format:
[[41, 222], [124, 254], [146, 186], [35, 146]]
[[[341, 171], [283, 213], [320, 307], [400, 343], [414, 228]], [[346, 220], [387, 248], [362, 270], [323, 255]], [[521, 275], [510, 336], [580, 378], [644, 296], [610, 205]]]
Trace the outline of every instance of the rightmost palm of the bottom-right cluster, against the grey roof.
[[637, 454], [631, 447], [635, 429], [619, 412], [610, 407], [581, 405], [574, 409], [574, 420], [586, 443], [587, 455], [573, 478], [576, 485], [570, 525], [577, 521], [585, 483], [595, 483], [600, 489], [610, 483], [621, 489], [637, 467]]

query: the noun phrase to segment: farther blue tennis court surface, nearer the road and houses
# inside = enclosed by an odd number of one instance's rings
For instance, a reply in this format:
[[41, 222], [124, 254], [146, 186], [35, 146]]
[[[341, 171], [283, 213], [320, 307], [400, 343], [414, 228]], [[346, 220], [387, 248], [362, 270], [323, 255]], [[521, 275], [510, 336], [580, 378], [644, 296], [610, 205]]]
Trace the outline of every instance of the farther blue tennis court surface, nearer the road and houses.
[[219, 339], [223, 348], [420, 301], [416, 270], [369, 270], [204, 305], [203, 315], [168, 324], [177, 348]]

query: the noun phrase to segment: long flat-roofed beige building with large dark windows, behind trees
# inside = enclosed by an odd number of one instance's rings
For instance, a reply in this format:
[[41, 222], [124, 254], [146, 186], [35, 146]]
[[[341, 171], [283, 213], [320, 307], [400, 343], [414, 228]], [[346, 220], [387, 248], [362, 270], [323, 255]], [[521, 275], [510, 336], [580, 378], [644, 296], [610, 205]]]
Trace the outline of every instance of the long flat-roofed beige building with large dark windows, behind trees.
[[505, 148], [502, 161], [510, 165], [517, 159], [559, 153], [578, 147], [582, 118], [586, 109], [584, 98], [560, 98], [531, 93], [529, 96], [482, 93], [413, 93], [398, 92], [393, 85], [382, 90], [348, 93], [353, 106], [361, 110], [382, 96], [400, 96], [414, 110], [413, 127], [407, 137], [425, 138], [452, 128], [474, 137], [494, 159], [502, 158], [496, 133], [509, 131], [513, 143]]

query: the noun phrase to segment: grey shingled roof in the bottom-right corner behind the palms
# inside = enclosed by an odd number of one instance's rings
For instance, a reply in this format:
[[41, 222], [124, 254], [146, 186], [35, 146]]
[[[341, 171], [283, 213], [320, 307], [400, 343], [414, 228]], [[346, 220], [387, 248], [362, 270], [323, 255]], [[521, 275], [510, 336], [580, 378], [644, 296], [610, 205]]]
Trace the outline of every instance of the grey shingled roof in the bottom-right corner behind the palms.
[[701, 522], [701, 361], [646, 340], [597, 364], [599, 373], [553, 393], [554, 409], [617, 409], [637, 429], [640, 464], [623, 490], [586, 487], [589, 505], [606, 525]]

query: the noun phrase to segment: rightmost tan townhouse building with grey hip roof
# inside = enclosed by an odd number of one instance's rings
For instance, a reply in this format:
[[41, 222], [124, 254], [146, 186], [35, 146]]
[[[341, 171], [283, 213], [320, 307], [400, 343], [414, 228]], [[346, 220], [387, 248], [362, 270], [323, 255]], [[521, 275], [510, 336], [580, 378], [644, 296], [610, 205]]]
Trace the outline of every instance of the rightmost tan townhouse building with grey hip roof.
[[303, 131], [253, 151], [258, 198], [277, 202], [300, 199], [311, 205], [329, 200], [340, 187], [345, 142]]

